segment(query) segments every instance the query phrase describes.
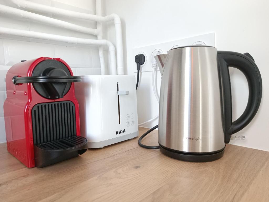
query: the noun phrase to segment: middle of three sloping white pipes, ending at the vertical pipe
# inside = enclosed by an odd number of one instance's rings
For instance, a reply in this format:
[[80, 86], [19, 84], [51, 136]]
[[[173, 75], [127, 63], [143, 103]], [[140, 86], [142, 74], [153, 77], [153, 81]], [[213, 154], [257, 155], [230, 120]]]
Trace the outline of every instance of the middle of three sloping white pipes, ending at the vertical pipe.
[[10, 15], [12, 14], [14, 16], [19, 16], [22, 18], [31, 19], [38, 22], [43, 22], [43, 23], [50, 24], [56, 27], [63, 27], [66, 29], [77, 31], [77, 32], [84, 32], [84, 33], [93, 34], [93, 35], [97, 35], [99, 33], [97, 29], [91, 29], [91, 28], [75, 25], [75, 24], [65, 22], [62, 20], [49, 18], [43, 15], [38, 15], [36, 13], [23, 11], [17, 8], [12, 8], [12, 7], [1, 5], [1, 4], [0, 4], [0, 12], [3, 14], [10, 14]]

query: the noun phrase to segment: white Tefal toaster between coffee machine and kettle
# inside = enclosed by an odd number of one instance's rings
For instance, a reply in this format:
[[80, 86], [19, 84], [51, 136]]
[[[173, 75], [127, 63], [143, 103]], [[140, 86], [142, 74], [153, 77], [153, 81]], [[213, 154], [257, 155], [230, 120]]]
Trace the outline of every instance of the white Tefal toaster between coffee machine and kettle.
[[80, 133], [89, 148], [102, 148], [138, 136], [135, 77], [84, 75], [75, 83]]

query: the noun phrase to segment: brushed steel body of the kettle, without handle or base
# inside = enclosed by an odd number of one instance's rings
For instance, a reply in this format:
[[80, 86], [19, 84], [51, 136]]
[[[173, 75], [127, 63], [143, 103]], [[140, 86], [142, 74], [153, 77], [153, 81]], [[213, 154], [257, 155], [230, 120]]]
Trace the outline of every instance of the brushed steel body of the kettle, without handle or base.
[[224, 148], [217, 49], [183, 47], [156, 59], [163, 66], [159, 143], [184, 152]]

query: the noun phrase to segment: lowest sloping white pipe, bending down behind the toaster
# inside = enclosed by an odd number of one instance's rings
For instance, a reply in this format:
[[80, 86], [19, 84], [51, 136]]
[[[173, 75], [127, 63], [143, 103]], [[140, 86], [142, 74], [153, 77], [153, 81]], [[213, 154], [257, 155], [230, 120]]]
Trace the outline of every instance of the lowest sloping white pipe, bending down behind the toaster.
[[34, 39], [44, 39], [44, 40], [51, 40], [51, 41], [60, 41], [60, 42], [71, 43], [71, 44], [106, 45], [108, 46], [109, 53], [110, 53], [111, 74], [112, 75], [117, 74], [115, 47], [108, 40], [81, 39], [81, 38], [76, 38], [76, 37], [46, 34], [46, 33], [41, 33], [41, 32], [11, 29], [11, 28], [5, 28], [5, 27], [0, 27], [0, 34], [28, 37], [28, 38], [34, 38]]

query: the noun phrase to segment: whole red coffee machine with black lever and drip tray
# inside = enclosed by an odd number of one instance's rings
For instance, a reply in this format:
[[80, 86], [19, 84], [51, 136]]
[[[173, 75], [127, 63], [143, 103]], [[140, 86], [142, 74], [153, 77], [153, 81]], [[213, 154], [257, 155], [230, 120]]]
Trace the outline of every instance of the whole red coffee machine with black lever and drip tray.
[[40, 57], [13, 65], [4, 103], [8, 151], [28, 168], [44, 167], [87, 151], [80, 136], [73, 76], [60, 58]]

